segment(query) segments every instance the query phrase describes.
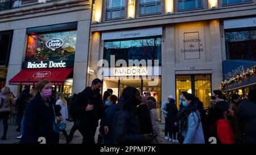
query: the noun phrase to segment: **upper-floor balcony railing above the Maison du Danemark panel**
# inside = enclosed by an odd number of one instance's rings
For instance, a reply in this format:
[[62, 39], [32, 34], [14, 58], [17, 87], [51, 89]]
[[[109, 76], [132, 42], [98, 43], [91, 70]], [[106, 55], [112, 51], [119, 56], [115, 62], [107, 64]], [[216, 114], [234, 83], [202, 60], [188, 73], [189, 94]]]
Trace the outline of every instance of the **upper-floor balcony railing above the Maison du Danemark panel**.
[[203, 7], [202, 0], [187, 0], [181, 1], [179, 0], [179, 10], [188, 10], [188, 9], [197, 9]]

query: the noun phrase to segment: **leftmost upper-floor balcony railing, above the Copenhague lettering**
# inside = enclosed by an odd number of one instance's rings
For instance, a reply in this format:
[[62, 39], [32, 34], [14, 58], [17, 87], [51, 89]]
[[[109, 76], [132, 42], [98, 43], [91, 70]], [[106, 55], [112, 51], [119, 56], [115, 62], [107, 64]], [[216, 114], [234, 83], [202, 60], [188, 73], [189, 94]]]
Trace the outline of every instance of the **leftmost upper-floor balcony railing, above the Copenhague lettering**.
[[106, 9], [106, 19], [125, 17], [125, 6]]

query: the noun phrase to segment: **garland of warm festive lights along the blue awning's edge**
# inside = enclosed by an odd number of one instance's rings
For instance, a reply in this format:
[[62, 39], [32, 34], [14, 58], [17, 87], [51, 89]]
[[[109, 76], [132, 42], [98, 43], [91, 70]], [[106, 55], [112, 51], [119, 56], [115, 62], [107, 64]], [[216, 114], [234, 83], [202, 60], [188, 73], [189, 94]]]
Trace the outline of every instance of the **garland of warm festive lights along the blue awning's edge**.
[[241, 73], [234, 75], [228, 79], [225, 79], [221, 82], [221, 89], [224, 90], [225, 86], [233, 83], [238, 82], [242, 79], [245, 79], [246, 77], [253, 76], [256, 73], [256, 65], [252, 66], [251, 68], [247, 68], [246, 70], [243, 70]]

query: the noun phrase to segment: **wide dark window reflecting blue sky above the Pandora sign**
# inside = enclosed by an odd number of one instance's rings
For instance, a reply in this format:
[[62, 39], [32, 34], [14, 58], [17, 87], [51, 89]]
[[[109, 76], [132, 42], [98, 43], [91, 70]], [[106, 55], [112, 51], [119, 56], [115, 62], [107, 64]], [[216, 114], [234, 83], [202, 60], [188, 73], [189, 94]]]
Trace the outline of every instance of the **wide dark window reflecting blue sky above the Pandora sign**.
[[117, 60], [159, 60], [161, 64], [161, 38], [134, 39], [122, 41], [105, 41], [104, 59], [110, 64], [110, 55]]

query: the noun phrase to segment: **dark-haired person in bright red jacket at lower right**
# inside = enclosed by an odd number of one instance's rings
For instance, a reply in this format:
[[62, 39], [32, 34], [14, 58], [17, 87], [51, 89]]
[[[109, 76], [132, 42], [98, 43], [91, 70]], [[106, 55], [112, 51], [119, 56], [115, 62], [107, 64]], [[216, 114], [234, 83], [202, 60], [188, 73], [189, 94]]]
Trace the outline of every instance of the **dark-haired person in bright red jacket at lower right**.
[[228, 123], [228, 117], [233, 115], [234, 112], [228, 102], [221, 100], [214, 105], [210, 136], [216, 138], [217, 144], [235, 143], [234, 132]]

